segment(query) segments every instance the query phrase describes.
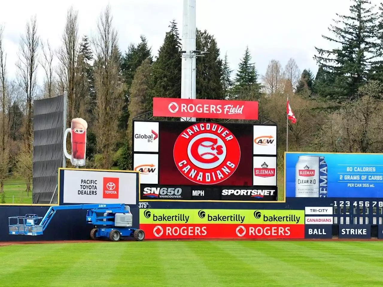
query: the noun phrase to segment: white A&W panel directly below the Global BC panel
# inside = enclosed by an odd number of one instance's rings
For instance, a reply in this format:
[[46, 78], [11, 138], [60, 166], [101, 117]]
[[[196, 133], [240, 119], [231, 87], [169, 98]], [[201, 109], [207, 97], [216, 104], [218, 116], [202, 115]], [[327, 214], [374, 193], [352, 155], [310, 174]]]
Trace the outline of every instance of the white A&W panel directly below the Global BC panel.
[[140, 172], [140, 183], [158, 184], [158, 154], [135, 153], [133, 165]]

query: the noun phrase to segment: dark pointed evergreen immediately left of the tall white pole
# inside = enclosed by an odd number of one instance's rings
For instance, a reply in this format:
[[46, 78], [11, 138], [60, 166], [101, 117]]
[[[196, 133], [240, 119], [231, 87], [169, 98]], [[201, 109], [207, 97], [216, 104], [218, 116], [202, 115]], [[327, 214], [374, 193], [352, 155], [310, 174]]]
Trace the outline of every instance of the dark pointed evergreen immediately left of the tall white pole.
[[152, 97], [181, 97], [181, 42], [177, 23], [170, 23], [170, 31], [166, 33], [164, 44], [159, 49], [158, 57], [153, 63]]

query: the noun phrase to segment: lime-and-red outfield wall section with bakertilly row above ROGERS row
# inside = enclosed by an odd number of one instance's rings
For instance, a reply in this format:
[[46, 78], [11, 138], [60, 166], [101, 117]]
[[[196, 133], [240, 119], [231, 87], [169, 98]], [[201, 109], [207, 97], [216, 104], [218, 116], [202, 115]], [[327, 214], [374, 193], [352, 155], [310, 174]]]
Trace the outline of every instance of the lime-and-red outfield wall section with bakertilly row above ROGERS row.
[[140, 209], [147, 239], [304, 238], [304, 210]]

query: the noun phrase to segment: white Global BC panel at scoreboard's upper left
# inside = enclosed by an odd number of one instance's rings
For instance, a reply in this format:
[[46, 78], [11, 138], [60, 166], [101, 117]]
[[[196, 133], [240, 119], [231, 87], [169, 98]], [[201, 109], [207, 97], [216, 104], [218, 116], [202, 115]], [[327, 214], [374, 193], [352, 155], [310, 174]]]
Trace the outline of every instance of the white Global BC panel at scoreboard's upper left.
[[158, 152], [158, 122], [134, 121], [134, 152]]

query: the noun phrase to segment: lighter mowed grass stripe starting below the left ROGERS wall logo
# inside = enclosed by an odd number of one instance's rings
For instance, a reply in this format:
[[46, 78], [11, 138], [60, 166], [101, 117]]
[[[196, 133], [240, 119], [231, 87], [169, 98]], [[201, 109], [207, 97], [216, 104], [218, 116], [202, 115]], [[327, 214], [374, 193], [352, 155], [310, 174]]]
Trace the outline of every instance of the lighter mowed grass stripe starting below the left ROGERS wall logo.
[[156, 242], [164, 270], [162, 276], [166, 284], [161, 286], [211, 286], [222, 287], [219, 277], [211, 272], [204, 262], [204, 257], [196, 254], [198, 249], [204, 254], [211, 254], [210, 244], [199, 241], [165, 241]]

